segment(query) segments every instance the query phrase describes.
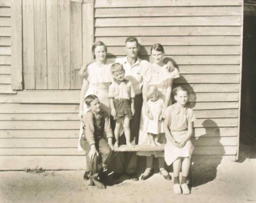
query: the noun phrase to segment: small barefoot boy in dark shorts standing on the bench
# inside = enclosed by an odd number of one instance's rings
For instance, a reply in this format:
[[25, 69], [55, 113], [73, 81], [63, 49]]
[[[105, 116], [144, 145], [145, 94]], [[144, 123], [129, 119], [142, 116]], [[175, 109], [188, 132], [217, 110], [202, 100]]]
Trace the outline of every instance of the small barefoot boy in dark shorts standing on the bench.
[[124, 128], [126, 144], [134, 147], [130, 142], [130, 120], [135, 113], [135, 93], [132, 83], [125, 79], [125, 70], [120, 63], [114, 63], [110, 67], [113, 82], [109, 88], [111, 115], [116, 120], [114, 147], [119, 147], [120, 130]]

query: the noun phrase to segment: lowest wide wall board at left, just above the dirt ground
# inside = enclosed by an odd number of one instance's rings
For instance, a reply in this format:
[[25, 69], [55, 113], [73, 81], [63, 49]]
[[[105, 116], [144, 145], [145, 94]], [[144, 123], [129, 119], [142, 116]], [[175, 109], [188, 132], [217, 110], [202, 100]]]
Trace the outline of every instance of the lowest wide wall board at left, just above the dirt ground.
[[0, 170], [38, 169], [86, 169], [85, 156], [0, 156]]

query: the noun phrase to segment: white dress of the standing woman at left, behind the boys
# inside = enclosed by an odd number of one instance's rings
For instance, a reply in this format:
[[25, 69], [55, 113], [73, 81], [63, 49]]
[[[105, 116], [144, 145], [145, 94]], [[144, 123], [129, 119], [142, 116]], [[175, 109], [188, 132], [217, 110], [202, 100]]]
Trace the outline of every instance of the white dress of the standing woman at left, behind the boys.
[[[89, 86], [88, 90], [85, 93], [84, 97], [89, 94], [94, 94], [99, 98], [101, 102], [101, 108], [106, 110], [110, 114], [110, 101], [108, 97], [110, 83], [112, 81], [112, 76], [110, 72], [111, 64], [103, 64], [101, 67], [97, 65], [96, 62], [91, 63], [87, 68], [87, 76], [85, 79], [88, 80]], [[88, 111], [87, 106], [83, 102], [83, 113], [85, 114]], [[79, 142], [78, 142], [78, 151], [82, 151], [82, 147], [80, 146], [80, 139], [82, 137], [82, 122], [80, 126], [79, 133]]]

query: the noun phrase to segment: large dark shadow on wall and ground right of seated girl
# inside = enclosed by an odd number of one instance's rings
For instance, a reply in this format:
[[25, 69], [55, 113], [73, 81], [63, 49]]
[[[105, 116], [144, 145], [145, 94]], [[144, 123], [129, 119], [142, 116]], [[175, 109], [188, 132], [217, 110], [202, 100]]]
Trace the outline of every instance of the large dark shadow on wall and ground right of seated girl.
[[[221, 135], [218, 125], [213, 120], [206, 119], [202, 126], [205, 129], [205, 134], [192, 139], [192, 143], [195, 145], [191, 171], [193, 187], [206, 184], [216, 178], [217, 168], [225, 154], [224, 147], [220, 143]], [[201, 156], [201, 154], [204, 155]]]

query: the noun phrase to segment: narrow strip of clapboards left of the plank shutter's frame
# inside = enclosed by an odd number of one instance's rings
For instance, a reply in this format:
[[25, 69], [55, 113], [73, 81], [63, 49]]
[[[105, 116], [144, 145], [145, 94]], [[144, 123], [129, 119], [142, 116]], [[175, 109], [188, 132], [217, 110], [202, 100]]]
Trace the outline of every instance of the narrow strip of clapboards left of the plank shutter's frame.
[[15, 93], [11, 88], [11, 3], [0, 0], [0, 93]]

